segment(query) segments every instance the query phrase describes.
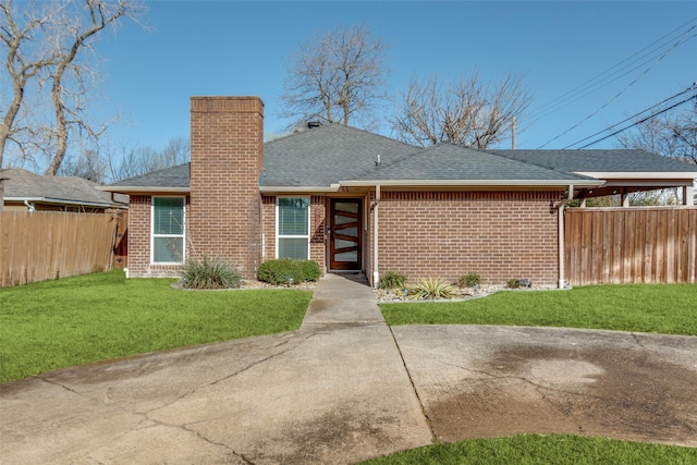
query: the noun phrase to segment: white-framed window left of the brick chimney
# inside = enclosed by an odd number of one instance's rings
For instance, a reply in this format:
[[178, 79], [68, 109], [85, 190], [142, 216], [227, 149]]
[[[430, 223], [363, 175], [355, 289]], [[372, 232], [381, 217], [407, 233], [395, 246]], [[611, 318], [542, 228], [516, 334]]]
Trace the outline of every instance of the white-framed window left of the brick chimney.
[[184, 262], [184, 198], [152, 197], [154, 264]]

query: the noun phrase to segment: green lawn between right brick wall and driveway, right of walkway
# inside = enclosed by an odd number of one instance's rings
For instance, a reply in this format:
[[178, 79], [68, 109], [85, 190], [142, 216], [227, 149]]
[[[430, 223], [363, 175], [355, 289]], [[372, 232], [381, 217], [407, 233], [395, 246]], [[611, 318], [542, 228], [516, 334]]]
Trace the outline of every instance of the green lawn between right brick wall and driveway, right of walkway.
[[696, 303], [695, 284], [611, 284], [380, 308], [390, 326], [506, 325], [697, 335]]

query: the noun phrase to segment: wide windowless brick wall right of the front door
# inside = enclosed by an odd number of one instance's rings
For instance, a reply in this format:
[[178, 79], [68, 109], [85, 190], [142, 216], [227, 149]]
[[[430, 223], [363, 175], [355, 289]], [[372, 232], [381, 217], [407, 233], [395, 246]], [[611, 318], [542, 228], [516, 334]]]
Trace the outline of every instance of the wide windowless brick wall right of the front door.
[[[558, 281], [559, 192], [382, 192], [379, 270], [412, 281], [469, 272], [486, 283]], [[372, 225], [371, 225], [372, 228]], [[372, 257], [370, 257], [371, 259]]]

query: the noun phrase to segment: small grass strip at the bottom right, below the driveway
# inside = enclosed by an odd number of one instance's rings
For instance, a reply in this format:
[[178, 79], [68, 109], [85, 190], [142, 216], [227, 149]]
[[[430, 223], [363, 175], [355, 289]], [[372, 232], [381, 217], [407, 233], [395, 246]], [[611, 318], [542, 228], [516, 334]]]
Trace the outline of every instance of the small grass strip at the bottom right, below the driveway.
[[364, 464], [438, 465], [596, 465], [695, 464], [697, 449], [580, 436], [519, 435], [426, 445], [375, 458]]

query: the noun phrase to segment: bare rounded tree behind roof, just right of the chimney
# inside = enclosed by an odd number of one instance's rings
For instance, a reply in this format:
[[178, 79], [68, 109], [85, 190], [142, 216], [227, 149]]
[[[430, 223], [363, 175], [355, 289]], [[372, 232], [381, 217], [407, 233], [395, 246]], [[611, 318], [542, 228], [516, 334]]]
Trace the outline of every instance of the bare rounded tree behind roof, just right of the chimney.
[[375, 124], [372, 111], [387, 98], [387, 45], [365, 27], [339, 27], [301, 46], [288, 66], [282, 117]]

